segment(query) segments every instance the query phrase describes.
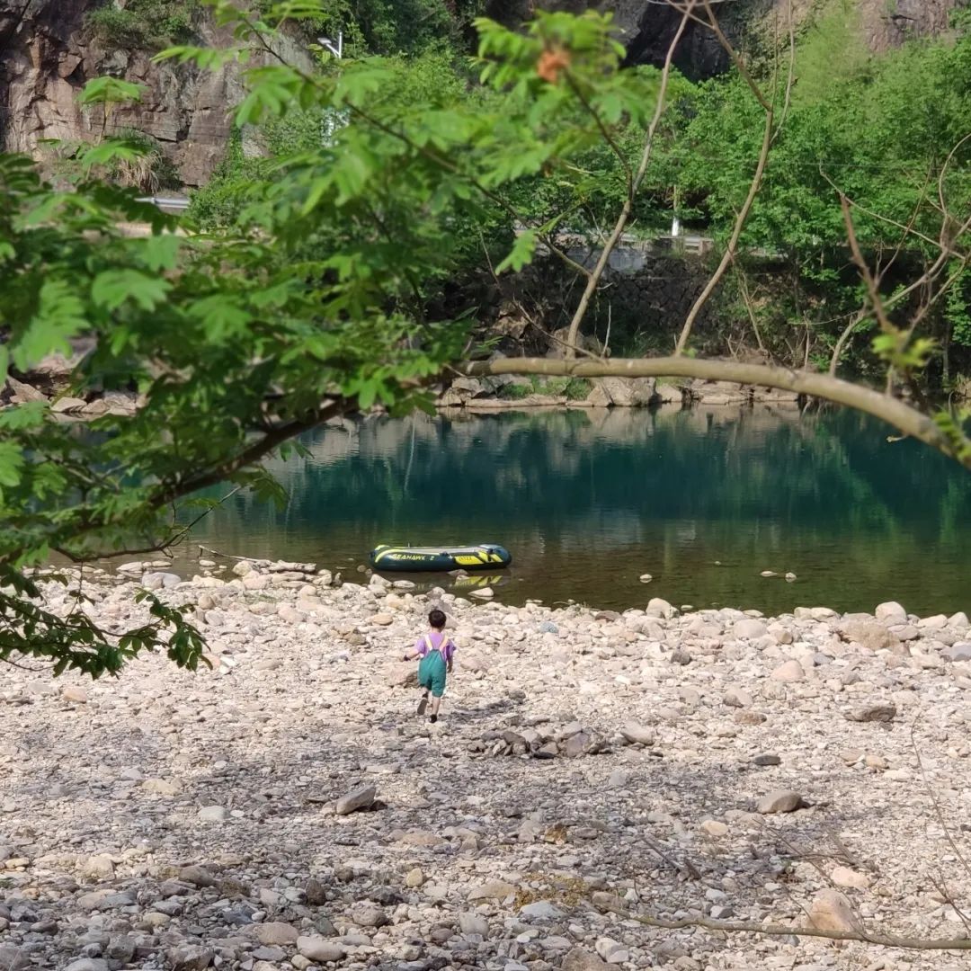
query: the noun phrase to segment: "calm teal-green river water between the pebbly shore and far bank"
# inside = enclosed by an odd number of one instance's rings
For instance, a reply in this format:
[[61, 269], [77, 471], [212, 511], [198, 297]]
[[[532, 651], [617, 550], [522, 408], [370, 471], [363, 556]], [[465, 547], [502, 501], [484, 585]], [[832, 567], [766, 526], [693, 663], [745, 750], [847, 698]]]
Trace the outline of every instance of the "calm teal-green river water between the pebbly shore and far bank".
[[349, 421], [275, 466], [285, 511], [239, 495], [195, 539], [350, 579], [382, 542], [501, 543], [514, 603], [971, 612], [971, 475], [890, 431], [765, 407]]

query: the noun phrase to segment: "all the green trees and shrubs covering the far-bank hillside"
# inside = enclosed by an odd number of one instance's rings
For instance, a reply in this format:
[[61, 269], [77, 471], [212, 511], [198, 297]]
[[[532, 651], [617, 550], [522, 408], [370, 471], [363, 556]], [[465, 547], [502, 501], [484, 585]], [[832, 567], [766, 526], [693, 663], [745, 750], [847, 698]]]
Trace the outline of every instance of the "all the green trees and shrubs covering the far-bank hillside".
[[[473, 6], [463, 16], [474, 13]], [[452, 29], [432, 37], [408, 27], [412, 21], [403, 16], [393, 30], [391, 21], [376, 18], [367, 6], [358, 16], [342, 21], [349, 50], [386, 53], [386, 38], [398, 41], [394, 50], [399, 52], [384, 61], [396, 79], [381, 94], [386, 117], [402, 117], [420, 111], [419, 106], [482, 105], [501, 112], [505, 95], [479, 83], [460, 18], [453, 17]], [[378, 23], [384, 24], [380, 30]], [[777, 38], [778, 45], [769, 46], [764, 21], [759, 23], [760, 32], [749, 44], [751, 67], [782, 102], [787, 41]], [[874, 54], [864, 43], [859, 4], [828, 0], [817, 6], [794, 37], [785, 117], [740, 240], [742, 256], [717, 293], [720, 322], [696, 334], [699, 351], [749, 347], [787, 363], [826, 367], [842, 339], [843, 366], [863, 374], [874, 370], [870, 331], [875, 324], [854, 322], [861, 283], [847, 249], [839, 196], [846, 194], [858, 206], [856, 233], [864, 250], [876, 257], [885, 254], [888, 261], [895, 254], [887, 268], [889, 292], [920, 275], [934, 259], [942, 230], [939, 192], [946, 194], [952, 212], [971, 199], [971, 142], [962, 142], [971, 132], [968, 25], [968, 12], [957, 11], [946, 34]], [[651, 68], [628, 70], [652, 77]], [[677, 214], [688, 231], [713, 236], [718, 251], [749, 190], [761, 140], [761, 109], [736, 70], [700, 84], [676, 78], [670, 101], [631, 230], [646, 237], [665, 233]], [[289, 113], [268, 122], [263, 158], [247, 157], [237, 140], [216, 178], [196, 193], [194, 215], [205, 225], [239, 217], [252, 181], [272, 171], [275, 159], [288, 152], [314, 151], [328, 123], [312, 113]], [[628, 162], [639, 152], [642, 133], [639, 120], [617, 119], [614, 139]], [[447, 296], [453, 301], [457, 288], [480, 313], [487, 311], [481, 282], [491, 258], [501, 259], [498, 251], [508, 243], [515, 221], [510, 210], [522, 224], [552, 224], [554, 234], [586, 235], [595, 242], [624, 192], [624, 166], [603, 140], [579, 153], [568, 168], [519, 179], [498, 203], [482, 208], [474, 225], [452, 234], [454, 261], [438, 278], [439, 283], [448, 278], [449, 292], [425, 281], [429, 298], [435, 305]], [[912, 232], [897, 252], [906, 226]], [[956, 264], [952, 269], [957, 272]], [[946, 389], [960, 386], [962, 376], [971, 372], [971, 282], [966, 274], [958, 276], [947, 299], [926, 318], [927, 332], [939, 348], [929, 380]], [[553, 301], [571, 299], [550, 296]], [[600, 301], [595, 315], [603, 317], [605, 306]], [[534, 310], [541, 316], [541, 310]], [[603, 333], [605, 321], [596, 324]], [[636, 311], [614, 318], [613, 350], [669, 348], [680, 325], [672, 319], [669, 330], [645, 329]]]

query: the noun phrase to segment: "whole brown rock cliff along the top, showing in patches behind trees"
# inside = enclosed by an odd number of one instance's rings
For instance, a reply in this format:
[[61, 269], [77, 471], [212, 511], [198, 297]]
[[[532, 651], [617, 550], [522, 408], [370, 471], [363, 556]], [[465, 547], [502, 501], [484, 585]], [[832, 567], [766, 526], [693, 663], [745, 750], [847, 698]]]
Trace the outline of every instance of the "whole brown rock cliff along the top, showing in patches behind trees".
[[[0, 148], [36, 152], [44, 139], [75, 140], [101, 130], [100, 114], [85, 115], [77, 104], [84, 83], [102, 74], [146, 85], [140, 105], [118, 109], [110, 127], [136, 128], [155, 138], [175, 162], [186, 185], [206, 182], [225, 151], [227, 110], [241, 90], [229, 68], [216, 74], [155, 65], [147, 51], [106, 50], [84, 29], [84, 16], [98, 0], [0, 0]], [[517, 23], [539, 6], [580, 11], [593, 0], [493, 0], [488, 13]], [[758, 29], [790, 0], [734, 0], [720, 8], [723, 26], [735, 40]], [[939, 32], [950, 12], [966, 0], [853, 0], [864, 37], [885, 50], [907, 37]], [[803, 22], [814, 0], [791, 0]], [[663, 61], [680, 15], [658, 0], [602, 3], [616, 18], [630, 63]], [[205, 23], [203, 43], [220, 37]], [[298, 46], [294, 46], [297, 48]], [[299, 50], [290, 51], [290, 53]], [[725, 57], [711, 32], [689, 24], [677, 57], [689, 77], [724, 70]]]

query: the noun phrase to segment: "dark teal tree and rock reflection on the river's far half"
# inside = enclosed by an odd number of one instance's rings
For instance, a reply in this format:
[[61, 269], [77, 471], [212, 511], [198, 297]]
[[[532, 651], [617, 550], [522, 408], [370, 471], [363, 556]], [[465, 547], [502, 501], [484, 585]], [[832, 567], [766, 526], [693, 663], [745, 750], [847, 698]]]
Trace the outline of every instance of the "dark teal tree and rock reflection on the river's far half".
[[[319, 522], [714, 519], [897, 529], [971, 512], [958, 470], [850, 413], [768, 409], [417, 416], [325, 429], [271, 465]], [[237, 509], [255, 512], [240, 496]], [[291, 510], [291, 513], [294, 510]], [[936, 526], [935, 534], [938, 532]], [[949, 531], [949, 533], [952, 531]], [[947, 536], [941, 536], [946, 539]]]

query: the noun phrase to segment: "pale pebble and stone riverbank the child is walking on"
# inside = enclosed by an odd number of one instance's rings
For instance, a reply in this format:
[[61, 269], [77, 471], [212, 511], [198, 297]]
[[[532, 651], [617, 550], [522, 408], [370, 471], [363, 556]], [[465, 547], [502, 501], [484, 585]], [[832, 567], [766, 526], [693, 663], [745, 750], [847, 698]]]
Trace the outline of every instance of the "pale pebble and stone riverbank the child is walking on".
[[[250, 562], [85, 575], [116, 629], [143, 584], [195, 603], [213, 667], [4, 669], [0, 966], [964, 966], [637, 921], [967, 937], [963, 614], [645, 595], [619, 615], [334, 583]], [[399, 660], [432, 602], [459, 648], [435, 726]]]

